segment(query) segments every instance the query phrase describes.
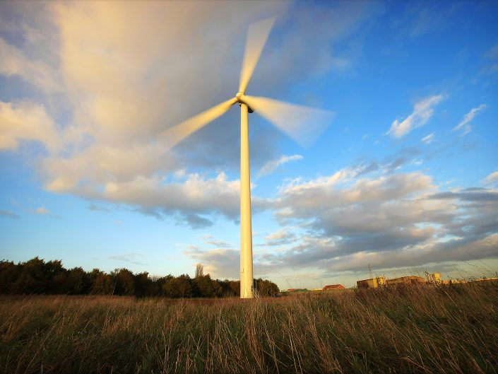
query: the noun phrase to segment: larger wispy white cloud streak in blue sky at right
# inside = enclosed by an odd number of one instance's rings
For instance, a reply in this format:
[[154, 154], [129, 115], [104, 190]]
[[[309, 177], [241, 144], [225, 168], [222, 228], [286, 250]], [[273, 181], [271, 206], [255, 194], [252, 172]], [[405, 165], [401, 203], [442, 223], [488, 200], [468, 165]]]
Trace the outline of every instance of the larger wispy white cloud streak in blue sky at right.
[[429, 98], [415, 103], [412, 114], [403, 120], [395, 119], [387, 134], [395, 138], [401, 138], [401, 136], [408, 134], [413, 129], [423, 126], [434, 114], [434, 106], [441, 103], [442, 100], [444, 100], [444, 95], [439, 94], [429, 96]]

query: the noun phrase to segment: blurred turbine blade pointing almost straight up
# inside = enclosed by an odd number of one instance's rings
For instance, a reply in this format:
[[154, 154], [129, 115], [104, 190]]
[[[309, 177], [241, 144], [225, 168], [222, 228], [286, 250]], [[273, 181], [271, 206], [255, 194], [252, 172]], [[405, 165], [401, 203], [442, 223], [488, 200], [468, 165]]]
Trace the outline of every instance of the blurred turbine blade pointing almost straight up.
[[239, 92], [246, 92], [247, 84], [258, 63], [259, 56], [261, 56], [268, 35], [270, 35], [273, 23], [275, 23], [275, 18], [267, 18], [266, 20], [253, 23], [249, 26], [246, 51], [244, 52], [242, 71], [240, 71]]

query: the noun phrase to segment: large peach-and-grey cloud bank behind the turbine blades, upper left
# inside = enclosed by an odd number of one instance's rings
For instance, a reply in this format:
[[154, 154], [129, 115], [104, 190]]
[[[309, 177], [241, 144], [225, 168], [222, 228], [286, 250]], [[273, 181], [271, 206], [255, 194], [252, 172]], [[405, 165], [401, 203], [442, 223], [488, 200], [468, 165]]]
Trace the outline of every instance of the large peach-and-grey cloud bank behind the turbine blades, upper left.
[[[42, 144], [37, 169], [50, 192], [179, 216], [196, 228], [210, 225], [209, 215], [234, 218], [238, 180], [220, 170], [238, 170], [236, 111], [172, 151], [158, 134], [235, 93], [247, 33], [241, 25], [278, 16], [249, 86], [278, 97], [289, 76], [305, 81], [352, 64], [331, 46], [355, 33], [375, 6], [309, 6], [299, 15], [291, 8], [225, 1], [1, 4], [0, 74], [20, 78], [32, 93], [0, 103], [0, 150]], [[333, 22], [316, 23], [316, 16]], [[292, 64], [282, 66], [282, 59]], [[300, 158], [277, 159], [283, 135], [259, 127], [256, 121], [251, 165], [263, 175]], [[179, 170], [186, 170], [182, 180]]]

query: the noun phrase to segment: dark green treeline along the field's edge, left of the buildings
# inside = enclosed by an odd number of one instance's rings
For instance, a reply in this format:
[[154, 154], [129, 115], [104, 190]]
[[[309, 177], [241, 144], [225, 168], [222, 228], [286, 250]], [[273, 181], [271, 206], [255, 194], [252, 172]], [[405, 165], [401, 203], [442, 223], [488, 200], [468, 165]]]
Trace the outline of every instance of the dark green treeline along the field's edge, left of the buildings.
[[[255, 279], [254, 289], [260, 296], [279, 293], [276, 284], [263, 279]], [[65, 269], [60, 260], [45, 262], [35, 257], [18, 264], [0, 261], [0, 293], [220, 298], [240, 296], [240, 282], [211, 279], [209, 274], [203, 274], [201, 264], [197, 265], [194, 278], [188, 274], [151, 277], [147, 272], [134, 274], [128, 269], [116, 269], [109, 274], [99, 269]]]

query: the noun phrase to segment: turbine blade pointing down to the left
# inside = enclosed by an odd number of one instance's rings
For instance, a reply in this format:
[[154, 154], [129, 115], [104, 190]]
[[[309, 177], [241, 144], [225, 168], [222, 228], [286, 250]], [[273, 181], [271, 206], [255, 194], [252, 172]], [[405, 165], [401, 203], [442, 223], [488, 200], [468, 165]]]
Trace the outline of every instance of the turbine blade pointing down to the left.
[[237, 103], [237, 98], [232, 98], [198, 115], [179, 123], [159, 134], [159, 139], [166, 145], [167, 149], [176, 146], [180, 141], [201, 127], [223, 115], [230, 107]]

